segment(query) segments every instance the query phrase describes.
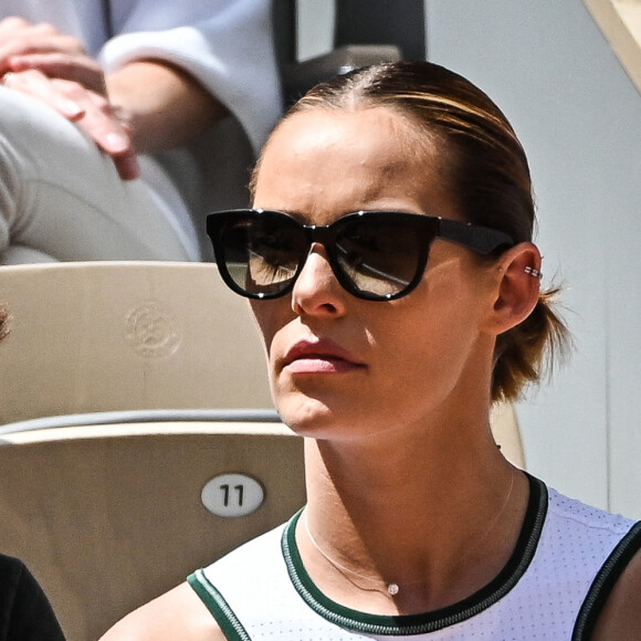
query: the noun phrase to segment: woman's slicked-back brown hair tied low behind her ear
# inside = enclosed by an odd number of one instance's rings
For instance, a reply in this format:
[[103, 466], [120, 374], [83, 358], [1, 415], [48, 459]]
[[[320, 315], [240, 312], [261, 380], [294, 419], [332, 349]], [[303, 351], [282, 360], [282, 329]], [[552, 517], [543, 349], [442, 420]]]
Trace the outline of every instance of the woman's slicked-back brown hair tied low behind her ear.
[[[535, 204], [523, 147], [494, 102], [454, 72], [423, 61], [365, 67], [315, 86], [285, 119], [314, 109], [372, 107], [397, 112], [413, 125], [417, 140], [424, 135], [437, 145], [444, 158], [440, 175], [467, 221], [504, 231], [515, 243], [532, 241]], [[252, 186], [259, 171], [260, 160]], [[546, 356], [565, 346], [566, 327], [551, 307], [556, 293], [542, 292], [532, 314], [498, 336], [493, 400], [515, 400], [525, 383], [539, 380]]]

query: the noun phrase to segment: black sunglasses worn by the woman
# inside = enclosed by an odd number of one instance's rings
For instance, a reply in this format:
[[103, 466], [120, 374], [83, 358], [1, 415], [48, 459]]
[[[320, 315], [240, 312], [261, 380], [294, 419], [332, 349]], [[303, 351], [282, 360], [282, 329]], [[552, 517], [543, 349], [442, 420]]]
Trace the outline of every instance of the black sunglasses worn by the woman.
[[261, 300], [292, 291], [312, 243], [325, 248], [340, 285], [367, 301], [409, 294], [422, 279], [437, 238], [480, 254], [514, 245], [509, 235], [486, 227], [396, 211], [357, 211], [317, 227], [281, 211], [238, 209], [210, 213], [207, 233], [229, 287]]

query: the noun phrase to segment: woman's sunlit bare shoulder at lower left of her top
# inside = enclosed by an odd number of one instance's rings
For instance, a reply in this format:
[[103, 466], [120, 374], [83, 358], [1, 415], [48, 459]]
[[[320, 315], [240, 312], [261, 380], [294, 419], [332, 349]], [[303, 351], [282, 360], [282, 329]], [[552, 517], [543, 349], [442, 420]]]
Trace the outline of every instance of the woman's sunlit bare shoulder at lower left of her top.
[[101, 641], [224, 641], [225, 637], [189, 584], [134, 610]]

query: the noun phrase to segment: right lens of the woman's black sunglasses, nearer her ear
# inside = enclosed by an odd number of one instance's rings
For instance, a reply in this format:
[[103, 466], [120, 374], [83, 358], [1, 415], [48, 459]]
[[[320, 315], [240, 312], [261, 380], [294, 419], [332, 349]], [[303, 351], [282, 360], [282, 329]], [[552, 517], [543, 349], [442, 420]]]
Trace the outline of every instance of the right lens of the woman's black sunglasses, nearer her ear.
[[396, 296], [408, 288], [421, 267], [424, 233], [398, 214], [351, 222], [336, 239], [340, 270], [357, 295]]

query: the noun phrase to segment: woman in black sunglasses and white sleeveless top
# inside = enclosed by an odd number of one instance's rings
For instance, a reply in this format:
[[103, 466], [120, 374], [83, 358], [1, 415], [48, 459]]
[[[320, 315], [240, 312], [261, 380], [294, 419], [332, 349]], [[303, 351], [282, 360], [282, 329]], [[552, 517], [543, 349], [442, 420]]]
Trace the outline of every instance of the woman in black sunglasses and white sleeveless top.
[[565, 338], [497, 107], [430, 63], [358, 71], [294, 106], [253, 188], [208, 231], [306, 437], [307, 505], [105, 639], [641, 638], [639, 528], [488, 427]]

